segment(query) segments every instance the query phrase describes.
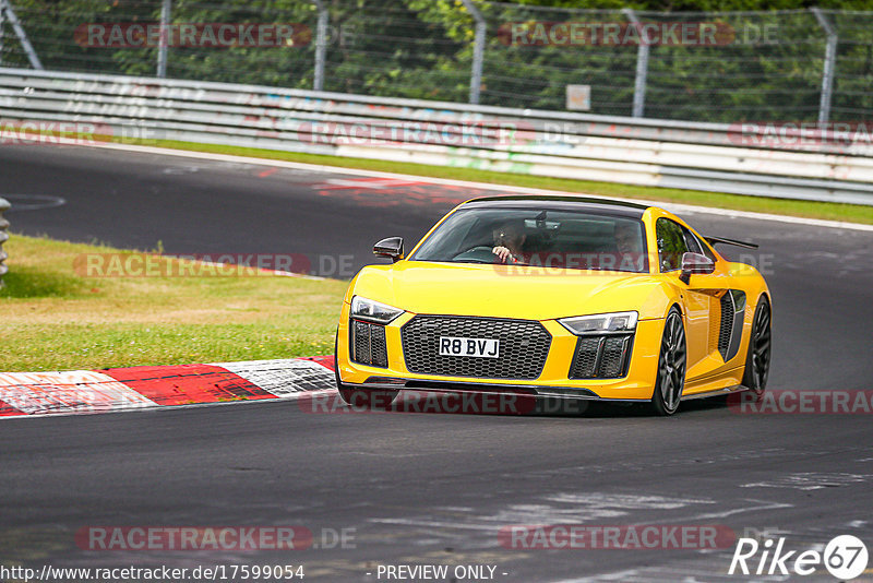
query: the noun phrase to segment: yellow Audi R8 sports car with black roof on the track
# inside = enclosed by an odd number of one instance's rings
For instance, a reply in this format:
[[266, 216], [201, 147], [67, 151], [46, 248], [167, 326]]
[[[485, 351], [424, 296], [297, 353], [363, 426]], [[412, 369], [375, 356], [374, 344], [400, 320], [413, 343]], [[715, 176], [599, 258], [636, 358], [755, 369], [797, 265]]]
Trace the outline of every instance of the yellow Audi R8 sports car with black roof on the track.
[[463, 203], [409, 252], [391, 237], [343, 302], [336, 380], [350, 403], [399, 391], [647, 402], [758, 395], [770, 294], [751, 265], [656, 206], [582, 197]]

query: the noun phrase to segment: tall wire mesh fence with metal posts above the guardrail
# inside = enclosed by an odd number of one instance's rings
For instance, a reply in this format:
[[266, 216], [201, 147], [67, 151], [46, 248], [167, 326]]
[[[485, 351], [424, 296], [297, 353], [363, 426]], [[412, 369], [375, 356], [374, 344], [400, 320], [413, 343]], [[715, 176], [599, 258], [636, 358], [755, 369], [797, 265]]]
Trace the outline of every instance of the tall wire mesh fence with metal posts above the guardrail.
[[[573, 107], [591, 114], [693, 121], [873, 114], [873, 12], [656, 13], [479, 0], [0, 4], [14, 7], [0, 17], [5, 67], [38, 61], [58, 71], [549, 110], [566, 110], [574, 91]], [[166, 40], [148, 41], [158, 23]], [[220, 24], [231, 25], [224, 39]], [[241, 24], [290, 27], [264, 38], [232, 28]]]

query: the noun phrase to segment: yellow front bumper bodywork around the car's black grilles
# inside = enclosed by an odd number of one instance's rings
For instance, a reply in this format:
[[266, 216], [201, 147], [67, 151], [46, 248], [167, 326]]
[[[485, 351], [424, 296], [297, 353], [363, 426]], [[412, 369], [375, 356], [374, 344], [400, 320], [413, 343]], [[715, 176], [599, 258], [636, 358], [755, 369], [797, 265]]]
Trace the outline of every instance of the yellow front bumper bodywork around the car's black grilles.
[[[534, 394], [571, 398], [648, 401], [654, 392], [663, 320], [641, 320], [633, 341], [627, 374], [620, 379], [570, 379], [577, 336], [555, 320], [540, 323], [552, 342], [542, 370], [534, 380], [487, 379], [418, 374], [406, 367], [400, 329], [412, 318], [406, 312], [385, 326], [387, 366], [355, 362], [349, 352], [349, 305], [343, 305], [337, 342], [337, 372], [342, 382], [362, 389], [418, 389]], [[458, 357], [463, 358], [463, 357]]]

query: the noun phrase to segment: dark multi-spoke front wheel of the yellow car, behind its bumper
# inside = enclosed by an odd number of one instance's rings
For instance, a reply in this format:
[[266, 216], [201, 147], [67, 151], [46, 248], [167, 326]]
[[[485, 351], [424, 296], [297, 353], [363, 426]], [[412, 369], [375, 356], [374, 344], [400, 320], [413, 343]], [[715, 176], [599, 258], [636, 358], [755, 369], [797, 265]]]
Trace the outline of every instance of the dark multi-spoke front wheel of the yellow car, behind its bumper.
[[672, 415], [679, 408], [682, 391], [685, 388], [686, 364], [685, 326], [679, 309], [673, 307], [663, 320], [658, 372], [649, 405], [656, 415]]

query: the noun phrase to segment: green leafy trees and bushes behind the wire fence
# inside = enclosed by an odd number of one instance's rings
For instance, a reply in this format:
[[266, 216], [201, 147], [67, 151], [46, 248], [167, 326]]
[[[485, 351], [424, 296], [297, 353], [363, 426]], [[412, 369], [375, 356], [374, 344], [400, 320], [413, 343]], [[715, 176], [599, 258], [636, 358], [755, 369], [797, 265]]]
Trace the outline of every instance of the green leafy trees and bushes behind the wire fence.
[[[37, 53], [49, 69], [154, 75], [155, 47], [83, 46], [85, 23], [157, 22], [159, 0], [14, 0]], [[824, 9], [869, 9], [869, 0], [814, 2]], [[324, 0], [330, 13], [324, 88], [342, 93], [466, 102], [475, 20], [461, 0]], [[630, 115], [637, 47], [519, 46], [510, 23], [718, 23], [717, 46], [653, 46], [647, 117], [698, 121], [817, 119], [825, 34], [809, 0], [522, 0], [476, 5], [487, 20], [481, 103], [561, 110], [569, 84], [591, 86], [591, 111]], [[779, 11], [774, 11], [778, 9]], [[718, 11], [686, 13], [682, 11]], [[761, 12], [729, 12], [752, 11]], [[170, 47], [168, 76], [312, 88], [318, 10], [310, 0], [174, 0], [181, 23], [298, 23], [310, 41], [282, 47]], [[832, 120], [873, 114], [873, 13], [828, 12], [838, 31]], [[9, 32], [7, 39], [10, 38]], [[81, 38], [80, 38], [81, 40]], [[7, 40], [3, 63], [26, 67]]]

